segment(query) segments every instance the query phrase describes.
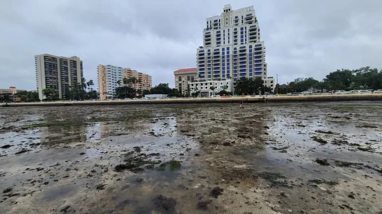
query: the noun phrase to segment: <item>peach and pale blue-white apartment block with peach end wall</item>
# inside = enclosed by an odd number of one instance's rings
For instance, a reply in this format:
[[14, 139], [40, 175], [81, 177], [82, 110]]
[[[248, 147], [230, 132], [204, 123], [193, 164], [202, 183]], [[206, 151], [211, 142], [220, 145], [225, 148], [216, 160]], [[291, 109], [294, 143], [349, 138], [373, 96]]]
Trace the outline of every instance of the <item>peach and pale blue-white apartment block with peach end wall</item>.
[[135, 84], [127, 84], [129, 87], [135, 87], [136, 90], [145, 90], [151, 88], [151, 76], [113, 65], [97, 66], [98, 93], [101, 100], [116, 98], [117, 87], [124, 86], [123, 79], [135, 77]]

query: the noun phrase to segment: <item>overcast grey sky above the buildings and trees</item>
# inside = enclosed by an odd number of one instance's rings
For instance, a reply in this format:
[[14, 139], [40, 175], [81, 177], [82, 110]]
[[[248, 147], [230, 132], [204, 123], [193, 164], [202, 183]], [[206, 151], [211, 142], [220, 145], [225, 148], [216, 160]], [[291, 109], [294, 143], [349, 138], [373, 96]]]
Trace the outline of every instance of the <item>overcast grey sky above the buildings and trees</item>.
[[340, 68], [382, 69], [381, 0], [2, 0], [0, 88], [35, 89], [34, 55], [79, 56], [96, 84], [98, 64], [170, 83], [195, 67], [205, 19], [253, 5], [268, 76], [318, 80]]

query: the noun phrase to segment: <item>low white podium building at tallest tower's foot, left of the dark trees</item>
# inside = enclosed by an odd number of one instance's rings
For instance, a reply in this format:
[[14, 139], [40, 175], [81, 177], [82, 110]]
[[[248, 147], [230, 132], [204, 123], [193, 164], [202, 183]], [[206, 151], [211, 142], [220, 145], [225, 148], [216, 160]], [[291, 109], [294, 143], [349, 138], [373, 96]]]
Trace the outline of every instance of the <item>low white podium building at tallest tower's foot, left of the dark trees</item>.
[[[216, 95], [221, 90], [233, 92], [234, 82], [232, 78], [224, 80], [199, 79], [198, 81], [191, 82], [190, 87], [191, 93], [200, 91], [200, 96], [212, 96]], [[213, 87], [213, 90], [211, 87]]]

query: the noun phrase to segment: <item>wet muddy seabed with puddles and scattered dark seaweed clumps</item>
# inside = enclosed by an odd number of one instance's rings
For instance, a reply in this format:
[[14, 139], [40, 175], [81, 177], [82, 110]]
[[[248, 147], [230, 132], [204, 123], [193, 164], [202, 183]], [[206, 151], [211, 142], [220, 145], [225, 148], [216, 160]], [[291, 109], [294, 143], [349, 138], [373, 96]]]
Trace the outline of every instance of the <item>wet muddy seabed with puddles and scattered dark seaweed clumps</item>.
[[382, 214], [382, 102], [0, 108], [1, 214]]

